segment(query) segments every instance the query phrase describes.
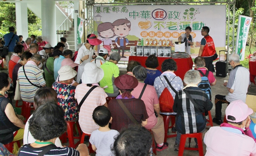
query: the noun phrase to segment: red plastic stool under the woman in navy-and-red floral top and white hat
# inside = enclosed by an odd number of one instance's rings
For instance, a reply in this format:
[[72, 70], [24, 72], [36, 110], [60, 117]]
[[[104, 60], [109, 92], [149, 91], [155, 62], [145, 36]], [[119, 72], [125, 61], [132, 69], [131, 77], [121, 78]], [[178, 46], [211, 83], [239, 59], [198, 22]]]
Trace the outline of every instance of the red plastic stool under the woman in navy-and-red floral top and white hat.
[[[82, 137], [82, 132], [78, 123], [78, 118], [76, 118], [75, 120], [66, 121], [66, 123], [67, 123], [67, 133], [68, 133], [68, 142], [69, 142], [68, 147], [76, 148], [76, 146], [80, 144], [80, 140]], [[74, 132], [76, 132], [75, 124], [77, 126], [79, 136], [74, 136]], [[67, 134], [65, 132], [64, 134], [62, 134], [62, 142], [65, 142], [67, 140], [66, 138], [67, 138]], [[78, 142], [76, 144], [74, 143], [74, 139], [78, 139]]]

